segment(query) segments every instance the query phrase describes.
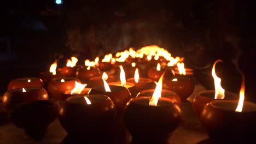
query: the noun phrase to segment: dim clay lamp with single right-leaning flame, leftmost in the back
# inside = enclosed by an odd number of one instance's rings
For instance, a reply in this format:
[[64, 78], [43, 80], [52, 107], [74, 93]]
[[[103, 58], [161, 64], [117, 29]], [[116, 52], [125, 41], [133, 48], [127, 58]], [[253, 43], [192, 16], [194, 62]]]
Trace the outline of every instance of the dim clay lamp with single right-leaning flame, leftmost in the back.
[[43, 80], [45, 88], [47, 88], [48, 82], [51, 79], [55, 79], [55, 78], [63, 79], [65, 77], [64, 75], [62, 75], [60, 73], [56, 73], [56, 68], [57, 68], [57, 61], [55, 61], [53, 64], [51, 64], [49, 72], [39, 73], [39, 78]]

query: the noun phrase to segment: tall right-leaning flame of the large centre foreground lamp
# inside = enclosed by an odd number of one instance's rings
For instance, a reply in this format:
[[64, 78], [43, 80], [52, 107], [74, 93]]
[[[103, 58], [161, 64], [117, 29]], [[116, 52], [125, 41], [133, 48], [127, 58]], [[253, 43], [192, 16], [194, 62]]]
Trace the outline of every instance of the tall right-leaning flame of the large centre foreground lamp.
[[162, 73], [158, 83], [156, 83], [155, 91], [154, 91], [154, 93], [152, 95], [152, 98], [149, 101], [149, 105], [152, 105], [152, 106], [158, 105], [158, 99], [161, 97], [162, 79], [163, 79], [164, 75], [165, 75], [165, 72]]

